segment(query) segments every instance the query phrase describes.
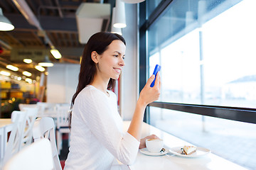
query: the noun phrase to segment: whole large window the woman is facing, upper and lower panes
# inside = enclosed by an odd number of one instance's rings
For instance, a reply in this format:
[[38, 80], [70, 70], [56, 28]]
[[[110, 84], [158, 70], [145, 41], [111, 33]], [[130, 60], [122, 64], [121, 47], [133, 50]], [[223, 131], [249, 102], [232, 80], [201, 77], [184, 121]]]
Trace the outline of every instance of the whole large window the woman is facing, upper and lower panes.
[[242, 122], [247, 119], [242, 110], [256, 108], [256, 1], [157, 1], [154, 10], [152, 2], [146, 3], [149, 76], [155, 64], [162, 66], [159, 103], [219, 107], [224, 113], [232, 108], [239, 115], [222, 119], [222, 113], [213, 118], [200, 111], [150, 106], [149, 123], [256, 169], [255, 116], [245, 121], [253, 123]]

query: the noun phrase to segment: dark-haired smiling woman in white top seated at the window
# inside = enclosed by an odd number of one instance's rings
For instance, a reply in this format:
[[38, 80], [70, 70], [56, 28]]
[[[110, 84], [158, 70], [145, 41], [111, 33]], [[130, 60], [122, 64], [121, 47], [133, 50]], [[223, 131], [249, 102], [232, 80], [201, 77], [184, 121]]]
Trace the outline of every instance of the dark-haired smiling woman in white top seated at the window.
[[124, 67], [125, 50], [126, 42], [118, 34], [96, 33], [88, 40], [72, 100], [70, 152], [65, 170], [111, 169], [116, 159], [132, 164], [138, 149], [145, 147], [145, 139], [140, 140], [142, 120], [146, 105], [159, 98], [160, 78], [156, 76], [154, 87], [150, 87], [154, 76], [149, 78], [137, 101], [131, 125], [123, 132], [117, 96], [110, 89]]

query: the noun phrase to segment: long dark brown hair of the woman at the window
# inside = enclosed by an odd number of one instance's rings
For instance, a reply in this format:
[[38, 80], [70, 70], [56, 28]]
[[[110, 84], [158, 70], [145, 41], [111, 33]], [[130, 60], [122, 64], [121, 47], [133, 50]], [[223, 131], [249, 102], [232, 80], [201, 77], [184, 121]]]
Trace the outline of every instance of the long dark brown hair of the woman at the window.
[[[70, 116], [69, 123], [71, 125], [72, 118], [72, 108], [75, 103], [75, 98], [78, 96], [80, 91], [85, 88], [88, 84], [92, 82], [96, 74], [96, 64], [92, 61], [91, 54], [93, 51], [97, 52], [97, 54], [102, 55], [105, 50], [107, 50], [108, 45], [111, 44], [113, 40], [121, 40], [126, 45], [124, 38], [116, 33], [107, 33], [100, 32], [95, 33], [90, 37], [87, 44], [85, 45], [85, 49], [82, 54], [82, 61], [80, 64], [80, 73], [78, 77], [78, 87], [73, 95], [71, 106], [70, 106]], [[110, 79], [107, 89], [112, 89], [115, 85], [115, 80]]]

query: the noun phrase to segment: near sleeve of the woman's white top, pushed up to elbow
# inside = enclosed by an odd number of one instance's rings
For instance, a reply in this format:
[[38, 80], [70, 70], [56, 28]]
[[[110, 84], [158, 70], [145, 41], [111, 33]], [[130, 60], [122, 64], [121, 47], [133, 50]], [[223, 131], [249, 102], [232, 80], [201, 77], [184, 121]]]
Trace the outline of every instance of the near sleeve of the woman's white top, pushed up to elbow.
[[[95, 91], [93, 91], [95, 92]], [[123, 164], [133, 164], [137, 157], [139, 141], [128, 132], [119, 132], [112, 117], [110, 104], [105, 96], [87, 93], [82, 97], [82, 118], [92, 131], [92, 134], [104, 145], [110, 153]], [[85, 113], [85, 114], [84, 114]]]

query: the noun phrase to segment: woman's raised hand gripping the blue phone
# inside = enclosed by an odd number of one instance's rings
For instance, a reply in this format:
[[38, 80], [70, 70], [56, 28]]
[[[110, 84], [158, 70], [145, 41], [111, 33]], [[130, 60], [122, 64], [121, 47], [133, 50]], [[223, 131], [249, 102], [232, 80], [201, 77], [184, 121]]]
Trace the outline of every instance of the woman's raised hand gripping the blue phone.
[[148, 105], [149, 103], [156, 101], [159, 99], [160, 96], [160, 75], [159, 72], [156, 74], [156, 81], [153, 87], [150, 84], [154, 81], [154, 74], [149, 77], [146, 85], [142, 89], [141, 93], [139, 94], [138, 102], [141, 103], [143, 106]]

